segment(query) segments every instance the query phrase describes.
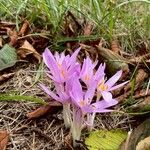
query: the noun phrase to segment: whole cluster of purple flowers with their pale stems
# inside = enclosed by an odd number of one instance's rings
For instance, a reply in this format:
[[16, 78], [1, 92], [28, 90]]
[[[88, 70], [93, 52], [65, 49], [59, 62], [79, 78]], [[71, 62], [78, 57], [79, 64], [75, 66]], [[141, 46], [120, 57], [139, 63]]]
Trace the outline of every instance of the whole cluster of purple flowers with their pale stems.
[[45, 49], [43, 60], [49, 69], [48, 76], [54, 82], [55, 91], [40, 84], [50, 97], [63, 104], [64, 123], [71, 129], [74, 145], [76, 140], [80, 140], [83, 127], [92, 129], [97, 112], [113, 111], [109, 107], [116, 105], [117, 100], [112, 97], [111, 91], [127, 83], [115, 85], [122, 71], [107, 80], [105, 64], [98, 66], [98, 61], [92, 62], [89, 57], [81, 65], [77, 62], [80, 49], [71, 56], [57, 52], [53, 55], [49, 49]]

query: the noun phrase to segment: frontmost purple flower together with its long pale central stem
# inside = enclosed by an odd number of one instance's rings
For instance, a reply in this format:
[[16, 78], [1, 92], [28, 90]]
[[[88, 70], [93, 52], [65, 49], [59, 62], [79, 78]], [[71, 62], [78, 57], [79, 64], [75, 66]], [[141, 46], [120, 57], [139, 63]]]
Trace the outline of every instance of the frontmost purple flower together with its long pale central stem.
[[83, 91], [79, 79], [73, 79], [73, 87], [70, 91], [70, 96], [73, 104], [73, 123], [71, 126], [71, 133], [74, 145], [75, 140], [80, 139], [82, 126], [85, 123], [85, 117], [89, 123], [91, 120], [88, 115], [96, 112], [111, 112], [113, 110], [107, 108], [117, 104], [117, 101], [113, 98], [109, 99], [111, 103], [108, 103], [105, 100], [93, 103], [92, 100], [95, 94], [95, 89], [96, 82], [94, 83], [94, 81], [92, 86], [88, 87], [86, 91]]

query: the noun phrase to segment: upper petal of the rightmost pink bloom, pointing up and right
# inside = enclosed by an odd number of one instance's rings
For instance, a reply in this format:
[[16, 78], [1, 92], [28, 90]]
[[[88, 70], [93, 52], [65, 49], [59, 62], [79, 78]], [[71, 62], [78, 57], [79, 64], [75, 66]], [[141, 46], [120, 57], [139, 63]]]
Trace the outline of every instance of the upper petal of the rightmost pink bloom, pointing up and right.
[[105, 84], [108, 85], [109, 88], [111, 88], [121, 77], [122, 70], [118, 71], [115, 75], [113, 75]]

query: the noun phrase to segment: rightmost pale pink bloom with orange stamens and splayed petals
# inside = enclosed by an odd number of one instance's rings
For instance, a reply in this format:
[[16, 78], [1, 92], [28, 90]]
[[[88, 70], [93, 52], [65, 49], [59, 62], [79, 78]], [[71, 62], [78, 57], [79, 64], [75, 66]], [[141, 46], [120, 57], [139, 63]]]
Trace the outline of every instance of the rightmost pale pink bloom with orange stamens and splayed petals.
[[111, 103], [112, 94], [110, 91], [113, 91], [129, 81], [123, 82], [121, 84], [115, 85], [116, 82], [119, 80], [119, 78], [122, 75], [122, 70], [118, 71], [115, 75], [113, 75], [108, 81], [105, 82], [104, 78], [99, 80], [97, 90], [100, 92], [106, 102]]

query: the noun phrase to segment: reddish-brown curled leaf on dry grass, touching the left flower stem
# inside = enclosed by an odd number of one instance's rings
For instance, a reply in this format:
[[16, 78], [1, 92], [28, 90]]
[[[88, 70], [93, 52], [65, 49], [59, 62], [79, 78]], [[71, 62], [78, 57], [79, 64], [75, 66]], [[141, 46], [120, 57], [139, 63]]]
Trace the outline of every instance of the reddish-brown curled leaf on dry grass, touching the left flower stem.
[[58, 102], [49, 102], [49, 105], [46, 106], [41, 106], [38, 109], [28, 113], [26, 116], [29, 119], [34, 119], [34, 118], [39, 118], [45, 114], [47, 114], [48, 112], [52, 112], [55, 110], [55, 108], [57, 107], [61, 107], [62, 105]]

